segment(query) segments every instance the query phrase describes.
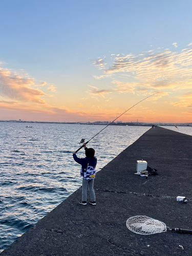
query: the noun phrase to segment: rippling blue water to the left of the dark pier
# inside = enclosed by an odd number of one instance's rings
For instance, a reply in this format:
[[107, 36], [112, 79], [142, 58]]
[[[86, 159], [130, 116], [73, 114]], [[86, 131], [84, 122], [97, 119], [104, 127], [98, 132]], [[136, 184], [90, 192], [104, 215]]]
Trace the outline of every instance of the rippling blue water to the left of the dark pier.
[[[87, 141], [103, 128], [0, 122], [0, 252], [81, 186], [80, 165], [72, 153], [82, 138]], [[107, 127], [88, 145], [96, 150], [97, 170], [148, 129]], [[84, 157], [84, 150], [77, 154]]]

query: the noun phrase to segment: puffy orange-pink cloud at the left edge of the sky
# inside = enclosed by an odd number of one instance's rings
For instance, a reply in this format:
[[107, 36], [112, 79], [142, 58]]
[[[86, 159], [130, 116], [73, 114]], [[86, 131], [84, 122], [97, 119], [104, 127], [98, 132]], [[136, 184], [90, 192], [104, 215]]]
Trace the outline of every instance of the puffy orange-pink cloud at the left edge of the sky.
[[15, 100], [45, 103], [41, 96], [46, 94], [32, 86], [35, 86], [35, 80], [24, 72], [0, 68], [0, 95]]

